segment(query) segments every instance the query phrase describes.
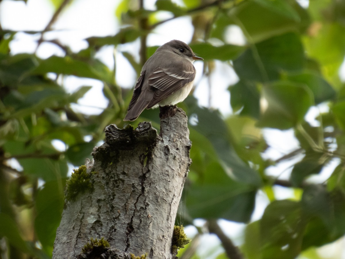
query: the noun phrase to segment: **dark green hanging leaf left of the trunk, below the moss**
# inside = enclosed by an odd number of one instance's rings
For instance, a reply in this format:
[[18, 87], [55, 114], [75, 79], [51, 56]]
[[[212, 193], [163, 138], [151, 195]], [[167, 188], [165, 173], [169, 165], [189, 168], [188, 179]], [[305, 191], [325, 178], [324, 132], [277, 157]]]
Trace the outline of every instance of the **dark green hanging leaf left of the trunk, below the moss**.
[[46, 182], [36, 196], [36, 213], [34, 227], [43, 250], [51, 256], [56, 236], [56, 229], [61, 220], [64, 182]]

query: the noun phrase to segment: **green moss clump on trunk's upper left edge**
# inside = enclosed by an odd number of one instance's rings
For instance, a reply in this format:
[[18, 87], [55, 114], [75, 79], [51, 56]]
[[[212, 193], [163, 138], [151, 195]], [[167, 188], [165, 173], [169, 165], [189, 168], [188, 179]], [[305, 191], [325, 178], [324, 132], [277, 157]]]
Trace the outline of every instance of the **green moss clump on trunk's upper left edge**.
[[75, 200], [78, 193], [84, 193], [86, 190], [92, 190], [93, 184], [91, 174], [86, 172], [86, 166], [81, 165], [78, 169], [73, 169], [71, 178], [66, 182], [66, 199], [68, 201]]

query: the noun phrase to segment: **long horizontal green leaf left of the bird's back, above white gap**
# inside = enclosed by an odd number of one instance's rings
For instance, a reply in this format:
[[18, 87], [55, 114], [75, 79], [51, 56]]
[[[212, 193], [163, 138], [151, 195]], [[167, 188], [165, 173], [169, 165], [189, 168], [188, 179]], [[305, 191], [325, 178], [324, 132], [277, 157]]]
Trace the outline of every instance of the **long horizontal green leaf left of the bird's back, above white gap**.
[[47, 59], [41, 60], [38, 67], [35, 68], [31, 73], [44, 75], [49, 72], [95, 78], [107, 82], [111, 82], [112, 77], [109, 68], [97, 59], [90, 60], [87, 63], [81, 60], [73, 59], [69, 56], [51, 56]]

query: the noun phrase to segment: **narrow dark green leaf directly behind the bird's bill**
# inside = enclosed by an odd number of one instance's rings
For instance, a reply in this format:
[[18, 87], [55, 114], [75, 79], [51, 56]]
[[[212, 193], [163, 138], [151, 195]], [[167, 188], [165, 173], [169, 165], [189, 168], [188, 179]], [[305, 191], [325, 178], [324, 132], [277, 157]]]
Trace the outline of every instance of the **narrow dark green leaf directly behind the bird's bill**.
[[189, 45], [193, 52], [204, 58], [205, 60], [218, 59], [221, 61], [227, 61], [237, 58], [245, 49], [244, 46], [236, 45], [223, 45], [223, 46], [213, 46], [208, 43], [191, 44]]

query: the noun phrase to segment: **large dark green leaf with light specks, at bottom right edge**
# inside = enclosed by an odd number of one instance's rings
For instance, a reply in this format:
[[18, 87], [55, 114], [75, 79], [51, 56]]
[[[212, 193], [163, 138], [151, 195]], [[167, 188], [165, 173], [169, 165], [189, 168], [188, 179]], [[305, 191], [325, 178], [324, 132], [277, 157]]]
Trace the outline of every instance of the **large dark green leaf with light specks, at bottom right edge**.
[[299, 202], [270, 203], [260, 220], [262, 257], [290, 259], [301, 252], [305, 221]]

